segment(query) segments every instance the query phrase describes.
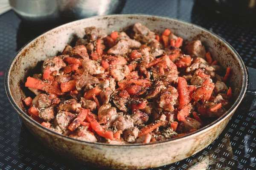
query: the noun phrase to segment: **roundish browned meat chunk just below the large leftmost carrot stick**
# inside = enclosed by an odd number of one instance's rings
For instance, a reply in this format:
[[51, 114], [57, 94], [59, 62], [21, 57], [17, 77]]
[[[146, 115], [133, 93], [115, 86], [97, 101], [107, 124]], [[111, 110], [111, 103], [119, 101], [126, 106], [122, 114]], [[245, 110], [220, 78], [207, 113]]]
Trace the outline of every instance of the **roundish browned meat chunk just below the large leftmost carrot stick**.
[[48, 108], [52, 105], [52, 100], [46, 94], [39, 94], [32, 100], [32, 105], [36, 108]]

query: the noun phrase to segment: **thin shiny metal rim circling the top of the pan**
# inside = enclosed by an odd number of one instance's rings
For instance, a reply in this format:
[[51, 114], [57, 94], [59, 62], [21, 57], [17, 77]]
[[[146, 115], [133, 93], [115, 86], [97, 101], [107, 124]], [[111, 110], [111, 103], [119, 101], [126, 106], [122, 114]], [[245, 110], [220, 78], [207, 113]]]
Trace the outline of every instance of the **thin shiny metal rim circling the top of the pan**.
[[88, 19], [88, 18], [85, 18], [85, 19], [76, 20], [76, 21], [73, 21], [73, 22], [70, 22], [70, 23], [66, 23], [64, 25], [58, 26], [56, 28], [53, 28], [53, 29], [47, 31], [44, 34], [41, 34], [40, 36], [36, 37], [34, 40], [29, 41], [22, 48], [20, 48], [20, 50], [17, 51], [15, 56], [9, 62], [9, 65], [7, 67], [6, 74], [5, 74], [6, 94], [7, 94], [8, 98], [9, 98], [9, 101], [11, 102], [12, 106], [20, 114], [20, 116], [22, 116], [24, 119], [26, 119], [28, 122], [32, 123], [33, 125], [38, 126], [38, 128], [40, 128], [40, 130], [43, 130], [45, 133], [49, 133], [49, 135], [57, 136], [58, 138], [61, 138], [61, 139], [64, 139], [64, 140], [69, 140], [70, 142], [75, 142], [75, 143], [80, 143], [80, 144], [89, 144], [89, 145], [99, 145], [99, 146], [102, 146], [102, 147], [107, 146], [107, 147], [122, 147], [122, 148], [127, 148], [128, 147], [128, 148], [130, 148], [130, 147], [151, 147], [151, 146], [153, 147], [153, 146], [167, 144], [167, 143], [179, 142], [181, 140], [186, 140], [186, 139], [188, 139], [190, 137], [192, 138], [192, 137], [196, 136], [197, 134], [204, 133], [204, 131], [208, 131], [212, 126], [220, 124], [221, 122], [224, 121], [224, 119], [229, 114], [232, 114], [233, 110], [236, 110], [236, 108], [240, 104], [240, 102], [243, 99], [244, 94], [246, 92], [247, 81], [248, 81], [248, 74], [247, 74], [244, 62], [241, 59], [240, 55], [237, 53], [237, 51], [227, 41], [225, 41], [223, 38], [219, 37], [217, 34], [214, 34], [214, 33], [210, 32], [206, 28], [203, 28], [201, 26], [198, 26], [198, 25], [195, 25], [195, 24], [183, 21], [183, 20], [178, 20], [178, 19], [175, 19], [175, 18], [171, 18], [171, 17], [162, 17], [162, 16], [155, 16], [155, 15], [147, 15], [147, 14], [113, 14], [113, 15], [90, 17], [90, 19], [91, 18], [93, 18], [93, 19], [101, 19], [101, 18], [105, 18], [105, 17], [121, 17], [121, 16], [124, 16], [124, 17], [138, 17], [138, 16], [140, 16], [140, 17], [156, 18], [156, 19], [162, 19], [162, 20], [166, 19], [166, 20], [173, 20], [173, 21], [176, 21], [176, 22], [179, 22], [179, 23], [183, 23], [183, 24], [187, 24], [187, 25], [189, 24], [189, 25], [191, 25], [191, 26], [193, 26], [195, 28], [198, 28], [198, 29], [201, 29], [204, 32], [207, 32], [208, 34], [211, 34], [212, 36], [214, 36], [214, 37], [218, 38], [219, 40], [221, 40], [222, 42], [224, 42], [224, 44], [228, 48], [230, 48], [230, 50], [233, 52], [234, 56], [236, 56], [236, 58], [238, 59], [239, 66], [242, 69], [242, 75], [243, 75], [241, 91], [239, 93], [238, 98], [236, 99], [236, 101], [231, 106], [231, 108], [228, 111], [226, 111], [226, 113], [224, 113], [221, 117], [219, 117], [217, 120], [215, 120], [214, 122], [210, 123], [209, 125], [207, 125], [205, 127], [200, 128], [200, 129], [198, 129], [198, 130], [196, 130], [196, 131], [194, 131], [192, 133], [188, 133], [188, 134], [186, 134], [184, 136], [168, 139], [168, 140], [165, 140], [165, 141], [148, 143], [148, 144], [123, 144], [123, 145], [117, 145], [117, 144], [108, 144], [108, 143], [100, 143], [100, 142], [95, 142], [95, 143], [86, 142], [86, 141], [81, 141], [81, 140], [78, 140], [78, 139], [73, 139], [73, 138], [70, 138], [68, 136], [63, 136], [62, 134], [56, 133], [56, 132], [54, 132], [52, 130], [47, 129], [46, 127], [41, 126], [38, 122], [36, 122], [35, 120], [31, 119], [29, 117], [29, 115], [27, 115], [22, 109], [20, 109], [16, 105], [16, 103], [15, 103], [15, 101], [14, 101], [14, 99], [13, 99], [11, 93], [10, 93], [10, 89], [9, 89], [10, 68], [12, 68], [13, 63], [14, 63], [15, 59], [17, 59], [17, 57], [20, 54], [20, 52], [25, 50], [26, 46], [28, 46], [30, 43], [32, 43], [33, 41], [39, 39], [40, 37], [44, 36], [45, 34], [48, 34], [50, 31], [57, 31], [58, 29], [60, 29], [62, 27], [70, 26], [70, 25], [73, 25], [73, 24], [81, 22], [81, 20], [87, 20]]

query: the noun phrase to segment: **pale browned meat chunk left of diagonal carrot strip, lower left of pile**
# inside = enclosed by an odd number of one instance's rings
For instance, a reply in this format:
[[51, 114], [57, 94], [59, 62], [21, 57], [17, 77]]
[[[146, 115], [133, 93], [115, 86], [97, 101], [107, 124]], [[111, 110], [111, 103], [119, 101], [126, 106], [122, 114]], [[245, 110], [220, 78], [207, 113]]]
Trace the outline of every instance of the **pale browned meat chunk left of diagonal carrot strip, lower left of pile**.
[[76, 115], [67, 112], [67, 111], [60, 111], [56, 115], [56, 122], [61, 130], [67, 130], [69, 124], [76, 118]]

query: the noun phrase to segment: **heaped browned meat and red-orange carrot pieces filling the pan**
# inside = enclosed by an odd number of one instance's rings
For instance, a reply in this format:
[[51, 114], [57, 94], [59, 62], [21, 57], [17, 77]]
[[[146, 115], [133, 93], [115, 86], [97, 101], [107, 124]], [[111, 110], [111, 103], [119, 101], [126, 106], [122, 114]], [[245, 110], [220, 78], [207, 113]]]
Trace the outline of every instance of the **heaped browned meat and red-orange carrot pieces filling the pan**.
[[44, 127], [87, 142], [150, 143], [193, 132], [232, 104], [224, 69], [200, 40], [140, 23], [110, 35], [95, 27], [27, 77], [22, 99]]

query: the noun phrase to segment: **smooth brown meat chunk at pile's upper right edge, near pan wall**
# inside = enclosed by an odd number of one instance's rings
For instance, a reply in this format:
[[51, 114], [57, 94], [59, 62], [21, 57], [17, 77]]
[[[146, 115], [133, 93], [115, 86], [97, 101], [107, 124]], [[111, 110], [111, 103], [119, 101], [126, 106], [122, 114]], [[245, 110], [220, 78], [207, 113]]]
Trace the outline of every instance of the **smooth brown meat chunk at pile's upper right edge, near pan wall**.
[[189, 42], [186, 49], [191, 57], [205, 58], [206, 51], [200, 40]]

